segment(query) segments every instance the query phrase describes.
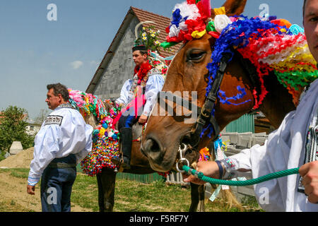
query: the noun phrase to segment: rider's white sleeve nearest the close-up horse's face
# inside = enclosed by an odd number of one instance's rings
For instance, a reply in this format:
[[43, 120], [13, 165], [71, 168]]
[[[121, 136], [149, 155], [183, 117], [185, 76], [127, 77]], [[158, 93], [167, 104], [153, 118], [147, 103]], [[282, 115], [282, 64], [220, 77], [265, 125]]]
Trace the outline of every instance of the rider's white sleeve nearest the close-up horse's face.
[[153, 109], [156, 97], [160, 90], [163, 89], [163, 83], [165, 83], [163, 76], [160, 74], [154, 74], [148, 78], [146, 83], [145, 98], [146, 104], [143, 107], [143, 114], [148, 116]]

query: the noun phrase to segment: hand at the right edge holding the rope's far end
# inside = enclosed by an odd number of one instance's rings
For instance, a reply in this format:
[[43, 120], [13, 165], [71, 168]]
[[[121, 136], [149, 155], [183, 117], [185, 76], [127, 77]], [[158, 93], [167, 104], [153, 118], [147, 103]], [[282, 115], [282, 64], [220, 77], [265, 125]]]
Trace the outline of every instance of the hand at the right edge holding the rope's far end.
[[309, 162], [299, 169], [305, 194], [310, 203], [318, 203], [318, 161]]

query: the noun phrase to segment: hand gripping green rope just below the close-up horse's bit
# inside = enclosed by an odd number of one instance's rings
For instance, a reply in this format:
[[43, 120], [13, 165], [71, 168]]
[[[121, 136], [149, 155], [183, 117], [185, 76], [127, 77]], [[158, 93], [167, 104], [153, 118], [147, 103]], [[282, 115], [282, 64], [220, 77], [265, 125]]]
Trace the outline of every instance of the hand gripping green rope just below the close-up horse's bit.
[[[216, 162], [212, 161], [201, 161], [196, 164], [196, 171], [203, 172], [206, 177], [213, 177], [218, 179], [219, 170]], [[199, 178], [194, 177], [194, 175], [182, 174], [184, 182], [191, 182], [194, 184], [205, 184], [206, 182], [202, 181]]]

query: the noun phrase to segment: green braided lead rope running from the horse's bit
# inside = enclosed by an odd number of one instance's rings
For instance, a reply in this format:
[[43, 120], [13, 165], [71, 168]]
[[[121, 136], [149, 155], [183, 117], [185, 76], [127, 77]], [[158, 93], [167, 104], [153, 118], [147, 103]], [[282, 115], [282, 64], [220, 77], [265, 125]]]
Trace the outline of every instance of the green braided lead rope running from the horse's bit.
[[266, 181], [269, 181], [271, 179], [276, 179], [279, 177], [286, 177], [286, 176], [291, 175], [291, 174], [298, 174], [298, 171], [299, 171], [299, 168], [286, 169], [283, 171], [278, 171], [278, 172], [273, 172], [271, 174], [266, 174], [262, 177], [258, 177], [255, 179], [249, 179], [249, 180], [245, 180], [245, 181], [228, 181], [225, 179], [214, 179], [211, 177], [206, 177], [206, 176], [204, 176], [204, 174], [202, 172], [197, 172], [195, 169], [191, 169], [187, 165], [184, 165], [182, 167], [182, 169], [184, 171], [186, 171], [188, 174], [190, 174], [190, 175], [192, 174], [192, 175], [198, 177], [199, 179], [203, 180], [204, 182], [208, 182], [211, 184], [229, 185], [229, 186], [248, 186], [248, 185], [252, 185], [252, 184], [259, 184], [261, 182], [266, 182]]

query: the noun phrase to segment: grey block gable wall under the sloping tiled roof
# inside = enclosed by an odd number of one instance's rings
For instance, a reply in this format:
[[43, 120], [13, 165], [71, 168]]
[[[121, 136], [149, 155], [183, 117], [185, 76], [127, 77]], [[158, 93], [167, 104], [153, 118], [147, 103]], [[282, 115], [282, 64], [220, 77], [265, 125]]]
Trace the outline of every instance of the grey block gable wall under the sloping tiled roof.
[[124, 82], [132, 78], [134, 74], [134, 61], [132, 59], [131, 48], [134, 46], [135, 27], [139, 23], [136, 17], [131, 20], [128, 28], [124, 32], [122, 40], [115, 51], [114, 57], [110, 60], [108, 67], [95, 87], [94, 95], [101, 99], [116, 100], [120, 95], [120, 90]]

